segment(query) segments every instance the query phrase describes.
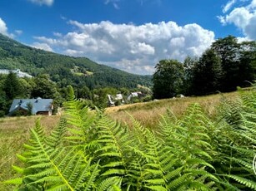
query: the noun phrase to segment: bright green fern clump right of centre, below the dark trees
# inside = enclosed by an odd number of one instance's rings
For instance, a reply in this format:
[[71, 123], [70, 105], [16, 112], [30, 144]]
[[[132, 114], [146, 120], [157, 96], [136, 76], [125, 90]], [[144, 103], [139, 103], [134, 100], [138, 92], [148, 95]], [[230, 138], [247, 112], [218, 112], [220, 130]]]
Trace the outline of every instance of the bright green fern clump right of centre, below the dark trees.
[[[168, 120], [169, 117], [173, 120]], [[212, 189], [205, 184], [210, 180], [212, 183], [217, 180], [206, 170], [214, 170], [213, 165], [209, 163], [213, 159], [212, 148], [208, 144], [210, 137], [207, 134], [208, 129], [213, 128], [213, 124], [203, 115], [200, 106], [190, 105], [180, 120], [173, 118], [173, 115], [163, 115], [160, 125], [163, 140], [171, 148], [174, 159], [178, 161], [175, 164], [177, 169], [173, 171], [177, 171], [178, 174], [167, 174], [172, 178], [168, 189]]]

